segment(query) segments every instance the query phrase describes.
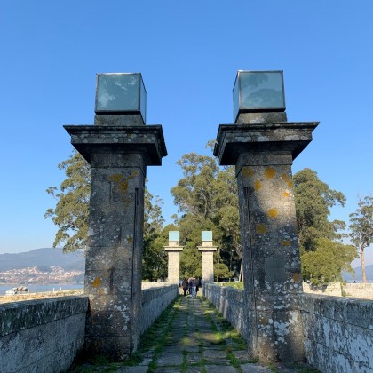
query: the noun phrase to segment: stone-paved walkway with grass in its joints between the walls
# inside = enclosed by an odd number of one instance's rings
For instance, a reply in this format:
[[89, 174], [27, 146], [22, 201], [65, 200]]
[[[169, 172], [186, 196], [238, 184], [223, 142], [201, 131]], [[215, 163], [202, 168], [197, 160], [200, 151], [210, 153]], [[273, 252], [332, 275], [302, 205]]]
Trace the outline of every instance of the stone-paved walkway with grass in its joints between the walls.
[[250, 361], [242, 337], [203, 298], [180, 297], [142, 338], [131, 361], [81, 364], [71, 372], [116, 371], [128, 373], [231, 373], [301, 372], [317, 370], [305, 364], [264, 366]]

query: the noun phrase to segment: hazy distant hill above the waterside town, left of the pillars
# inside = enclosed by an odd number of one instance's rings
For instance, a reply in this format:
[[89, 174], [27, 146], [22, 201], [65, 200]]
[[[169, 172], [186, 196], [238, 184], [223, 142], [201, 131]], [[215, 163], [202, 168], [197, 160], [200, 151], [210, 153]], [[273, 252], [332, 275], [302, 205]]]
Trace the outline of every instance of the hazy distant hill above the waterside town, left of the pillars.
[[81, 253], [64, 254], [61, 249], [44, 248], [17, 254], [0, 254], [0, 272], [28, 266], [61, 266], [65, 271], [84, 271]]

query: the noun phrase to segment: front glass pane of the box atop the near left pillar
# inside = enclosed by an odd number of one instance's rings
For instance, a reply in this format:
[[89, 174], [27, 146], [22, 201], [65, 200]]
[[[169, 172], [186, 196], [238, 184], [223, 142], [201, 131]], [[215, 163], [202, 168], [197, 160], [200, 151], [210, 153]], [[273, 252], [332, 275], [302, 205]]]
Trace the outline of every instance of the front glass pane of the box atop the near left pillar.
[[139, 75], [98, 75], [96, 111], [139, 111]]

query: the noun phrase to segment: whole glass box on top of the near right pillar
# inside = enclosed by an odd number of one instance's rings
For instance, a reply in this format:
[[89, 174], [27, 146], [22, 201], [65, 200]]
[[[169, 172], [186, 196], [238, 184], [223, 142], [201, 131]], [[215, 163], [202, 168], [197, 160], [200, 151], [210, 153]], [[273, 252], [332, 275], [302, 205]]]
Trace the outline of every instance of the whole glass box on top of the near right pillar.
[[234, 82], [234, 122], [240, 113], [283, 112], [282, 71], [238, 71]]

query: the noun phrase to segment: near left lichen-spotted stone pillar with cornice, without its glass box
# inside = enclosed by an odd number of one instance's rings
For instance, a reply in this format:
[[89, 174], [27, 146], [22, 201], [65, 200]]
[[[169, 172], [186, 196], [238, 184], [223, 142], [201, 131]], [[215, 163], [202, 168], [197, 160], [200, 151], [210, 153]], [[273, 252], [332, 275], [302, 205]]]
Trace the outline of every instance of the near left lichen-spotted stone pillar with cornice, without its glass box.
[[64, 127], [91, 163], [86, 353], [120, 361], [139, 344], [144, 185], [147, 165], [167, 155], [162, 126], [140, 115], [96, 115], [93, 126]]

